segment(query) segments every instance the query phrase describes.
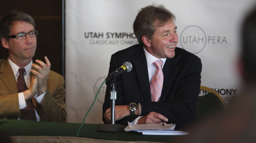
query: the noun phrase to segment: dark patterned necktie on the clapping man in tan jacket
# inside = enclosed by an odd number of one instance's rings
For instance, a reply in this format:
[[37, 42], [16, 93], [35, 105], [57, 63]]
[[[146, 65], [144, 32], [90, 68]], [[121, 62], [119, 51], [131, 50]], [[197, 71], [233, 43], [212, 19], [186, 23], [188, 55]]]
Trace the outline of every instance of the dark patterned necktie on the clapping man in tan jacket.
[[[17, 89], [18, 92], [23, 92], [28, 89], [24, 79], [25, 68], [19, 68], [18, 71], [19, 75], [17, 79]], [[27, 107], [20, 109], [20, 111], [22, 112], [20, 115], [20, 119], [36, 121], [35, 107], [32, 103], [32, 100], [29, 99], [26, 101], [26, 103]]]

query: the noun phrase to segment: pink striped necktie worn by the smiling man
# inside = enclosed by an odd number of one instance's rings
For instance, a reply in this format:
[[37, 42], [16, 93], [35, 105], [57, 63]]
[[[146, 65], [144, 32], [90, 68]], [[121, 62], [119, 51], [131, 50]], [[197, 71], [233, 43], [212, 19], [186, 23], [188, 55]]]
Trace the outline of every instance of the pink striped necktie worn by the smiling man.
[[158, 102], [160, 99], [162, 87], [163, 87], [163, 70], [162, 70], [163, 61], [156, 60], [154, 62], [154, 65], [157, 67], [157, 69], [156, 69], [156, 73], [154, 74], [150, 82], [151, 100], [153, 102]]

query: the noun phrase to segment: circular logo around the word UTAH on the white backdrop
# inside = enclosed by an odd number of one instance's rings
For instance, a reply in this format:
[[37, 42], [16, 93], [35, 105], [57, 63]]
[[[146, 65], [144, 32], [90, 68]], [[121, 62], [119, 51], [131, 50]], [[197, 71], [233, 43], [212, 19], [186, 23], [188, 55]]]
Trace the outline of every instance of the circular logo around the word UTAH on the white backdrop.
[[197, 54], [206, 45], [206, 34], [199, 26], [191, 25], [186, 27], [180, 35], [180, 43], [186, 51]]

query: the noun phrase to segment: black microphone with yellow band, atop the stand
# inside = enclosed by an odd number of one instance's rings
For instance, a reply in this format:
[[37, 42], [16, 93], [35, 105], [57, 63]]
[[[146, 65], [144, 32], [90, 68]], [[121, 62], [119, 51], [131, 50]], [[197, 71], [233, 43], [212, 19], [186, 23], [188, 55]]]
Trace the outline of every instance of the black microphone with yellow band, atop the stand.
[[124, 62], [122, 64], [122, 66], [120, 66], [115, 71], [113, 71], [105, 80], [108, 81], [110, 79], [114, 79], [114, 78], [116, 78], [117, 76], [119, 76], [120, 74], [122, 74], [124, 72], [131, 71], [132, 68], [133, 68], [133, 65], [130, 62]]

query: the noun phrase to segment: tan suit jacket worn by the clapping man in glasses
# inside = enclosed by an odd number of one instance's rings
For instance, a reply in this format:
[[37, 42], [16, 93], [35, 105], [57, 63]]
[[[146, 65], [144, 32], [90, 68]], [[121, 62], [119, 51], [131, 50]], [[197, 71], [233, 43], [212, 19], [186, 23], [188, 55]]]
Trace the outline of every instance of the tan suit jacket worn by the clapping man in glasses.
[[[33, 77], [30, 74], [30, 79]], [[32, 102], [40, 121], [66, 122], [66, 104], [64, 78], [50, 71], [47, 80], [47, 91], [41, 104], [37, 104], [35, 99]], [[8, 59], [0, 60], [0, 118], [18, 118], [20, 109], [18, 102], [18, 92], [15, 76]]]

